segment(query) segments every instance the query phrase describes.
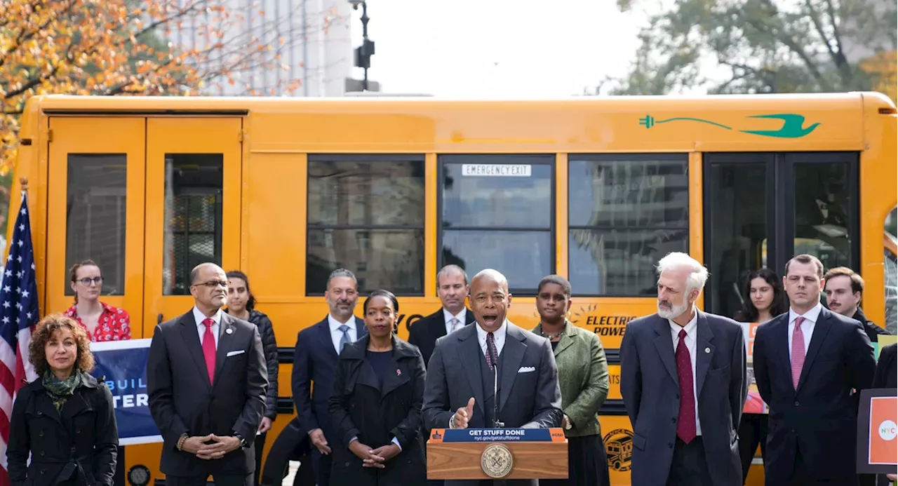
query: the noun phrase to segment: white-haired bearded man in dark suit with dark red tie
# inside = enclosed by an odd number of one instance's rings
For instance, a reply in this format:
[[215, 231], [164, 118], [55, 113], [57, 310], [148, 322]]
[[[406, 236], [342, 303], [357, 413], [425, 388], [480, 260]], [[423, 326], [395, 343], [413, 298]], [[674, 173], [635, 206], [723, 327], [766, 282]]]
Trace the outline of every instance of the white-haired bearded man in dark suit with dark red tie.
[[748, 393], [742, 326], [695, 307], [708, 270], [658, 261], [658, 312], [627, 325], [621, 394], [633, 426], [633, 486], [740, 486], [736, 431]]

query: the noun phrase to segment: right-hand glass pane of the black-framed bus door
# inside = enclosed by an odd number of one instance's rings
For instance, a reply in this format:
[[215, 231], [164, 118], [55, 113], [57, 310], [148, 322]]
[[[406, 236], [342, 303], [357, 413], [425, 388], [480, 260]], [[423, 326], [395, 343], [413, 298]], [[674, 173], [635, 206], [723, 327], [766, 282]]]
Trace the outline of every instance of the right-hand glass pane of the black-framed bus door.
[[853, 268], [850, 171], [848, 163], [795, 163], [794, 254], [812, 254], [825, 269]]

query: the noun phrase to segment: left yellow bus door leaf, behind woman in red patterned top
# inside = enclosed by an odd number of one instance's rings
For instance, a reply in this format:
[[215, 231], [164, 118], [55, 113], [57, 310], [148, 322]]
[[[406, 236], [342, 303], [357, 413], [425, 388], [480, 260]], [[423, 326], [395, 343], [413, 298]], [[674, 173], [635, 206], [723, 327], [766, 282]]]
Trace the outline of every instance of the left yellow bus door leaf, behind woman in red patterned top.
[[[69, 269], [92, 260], [100, 300], [131, 316], [141, 337], [144, 294], [145, 119], [50, 117], [46, 296], [42, 314], [75, 303]], [[80, 285], [75, 283], [75, 285]]]

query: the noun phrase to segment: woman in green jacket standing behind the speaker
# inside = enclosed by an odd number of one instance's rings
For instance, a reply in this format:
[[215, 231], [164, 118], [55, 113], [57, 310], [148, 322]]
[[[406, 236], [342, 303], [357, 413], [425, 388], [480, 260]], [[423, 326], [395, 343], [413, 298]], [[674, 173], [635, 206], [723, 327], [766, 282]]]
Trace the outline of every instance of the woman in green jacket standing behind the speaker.
[[550, 340], [559, 367], [561, 426], [568, 437], [568, 479], [540, 480], [543, 486], [607, 486], [608, 460], [598, 412], [608, 397], [608, 361], [594, 332], [570, 323], [570, 282], [550, 275], [536, 292], [540, 325], [533, 332]]

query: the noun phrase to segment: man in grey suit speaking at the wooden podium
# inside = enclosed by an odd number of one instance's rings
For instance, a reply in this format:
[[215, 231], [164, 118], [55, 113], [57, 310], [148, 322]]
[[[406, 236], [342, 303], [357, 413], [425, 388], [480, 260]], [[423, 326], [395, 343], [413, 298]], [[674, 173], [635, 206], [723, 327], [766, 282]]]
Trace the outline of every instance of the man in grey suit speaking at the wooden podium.
[[551, 344], [506, 320], [511, 305], [506, 278], [496, 270], [481, 271], [471, 279], [468, 298], [476, 325], [436, 340], [427, 367], [426, 428], [560, 427], [561, 390]]

